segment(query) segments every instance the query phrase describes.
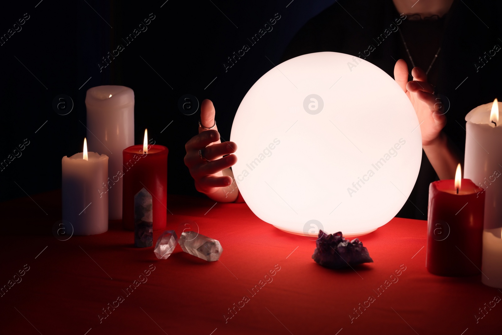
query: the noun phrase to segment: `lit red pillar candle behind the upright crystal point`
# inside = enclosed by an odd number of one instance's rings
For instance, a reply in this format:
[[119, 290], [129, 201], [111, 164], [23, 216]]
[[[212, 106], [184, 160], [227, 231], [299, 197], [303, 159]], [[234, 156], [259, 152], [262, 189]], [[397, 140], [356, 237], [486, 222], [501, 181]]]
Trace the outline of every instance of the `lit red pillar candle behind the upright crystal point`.
[[134, 145], [122, 151], [122, 225], [134, 231], [134, 196], [143, 187], [152, 194], [153, 229], [164, 229], [167, 217], [167, 154], [161, 145]]

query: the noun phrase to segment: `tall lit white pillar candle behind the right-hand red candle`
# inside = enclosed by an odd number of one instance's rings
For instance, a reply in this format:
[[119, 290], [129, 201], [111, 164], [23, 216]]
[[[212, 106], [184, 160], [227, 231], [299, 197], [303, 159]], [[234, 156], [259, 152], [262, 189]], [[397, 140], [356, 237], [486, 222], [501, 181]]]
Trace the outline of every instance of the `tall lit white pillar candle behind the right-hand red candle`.
[[[496, 111], [493, 116], [492, 106]], [[502, 108], [502, 102], [486, 103], [472, 109], [465, 117], [464, 178], [485, 190], [485, 230], [502, 227], [502, 125], [498, 122], [499, 108]]]

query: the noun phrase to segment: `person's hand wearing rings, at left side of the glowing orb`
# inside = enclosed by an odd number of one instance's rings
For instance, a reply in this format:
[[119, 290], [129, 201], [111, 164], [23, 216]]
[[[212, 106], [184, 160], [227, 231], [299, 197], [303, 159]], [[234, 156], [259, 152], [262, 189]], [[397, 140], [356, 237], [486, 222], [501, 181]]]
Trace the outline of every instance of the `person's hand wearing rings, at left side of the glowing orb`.
[[[215, 125], [214, 115], [215, 110], [211, 100], [202, 101], [200, 107], [202, 126], [211, 128]], [[185, 149], [184, 162], [195, 181], [197, 191], [209, 195], [222, 187], [230, 186], [233, 181], [231, 171], [224, 173], [223, 170], [237, 162], [237, 157], [232, 155], [237, 149], [237, 145], [233, 142], [221, 143], [216, 126], [210, 130], [199, 126], [199, 134], [186, 143]], [[202, 150], [202, 157], [207, 161], [200, 157], [199, 150]], [[224, 155], [228, 156], [223, 157]]]

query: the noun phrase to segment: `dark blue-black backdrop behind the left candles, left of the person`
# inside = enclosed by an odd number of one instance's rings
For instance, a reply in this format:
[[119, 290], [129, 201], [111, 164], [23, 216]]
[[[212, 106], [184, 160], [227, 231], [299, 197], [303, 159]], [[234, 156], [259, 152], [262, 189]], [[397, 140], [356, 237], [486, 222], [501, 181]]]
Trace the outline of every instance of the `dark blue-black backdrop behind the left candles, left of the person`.
[[[271, 62], [280, 63], [287, 44], [305, 22], [333, 3], [33, 0], [2, 4], [0, 36], [25, 13], [29, 19], [0, 46], [0, 161], [25, 139], [29, 145], [0, 171], [0, 201], [61, 187], [61, 158], [82, 151], [85, 93], [98, 85], [134, 90], [135, 143], [142, 143], [148, 128], [157, 144], [169, 148], [168, 192], [195, 194], [183, 157], [184, 144], [197, 133], [199, 113], [182, 114], [178, 99], [187, 93], [199, 102], [210, 98], [221, 137], [228, 140], [233, 116], [247, 90], [274, 67]], [[148, 29], [126, 45], [121, 38], [133, 33], [150, 13], [155, 19]], [[250, 46], [247, 38], [276, 13], [281, 19], [273, 30]], [[100, 72], [98, 63], [118, 44], [124, 50]], [[225, 72], [223, 63], [243, 44], [250, 50]], [[59, 94], [73, 100], [68, 115], [58, 115], [52, 107]]]

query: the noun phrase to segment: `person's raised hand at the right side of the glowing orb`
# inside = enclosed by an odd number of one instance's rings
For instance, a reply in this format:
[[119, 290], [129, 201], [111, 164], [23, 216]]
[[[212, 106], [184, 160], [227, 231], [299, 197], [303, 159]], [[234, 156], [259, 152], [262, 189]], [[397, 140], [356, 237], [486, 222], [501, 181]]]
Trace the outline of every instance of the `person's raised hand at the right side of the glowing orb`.
[[441, 100], [432, 94], [434, 86], [427, 82], [425, 72], [415, 67], [411, 73], [413, 81], [408, 81], [408, 65], [403, 59], [396, 62], [394, 78], [415, 107], [422, 132], [422, 145], [428, 146], [440, 137], [446, 125], [446, 111], [442, 110]]

